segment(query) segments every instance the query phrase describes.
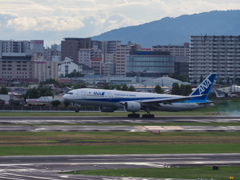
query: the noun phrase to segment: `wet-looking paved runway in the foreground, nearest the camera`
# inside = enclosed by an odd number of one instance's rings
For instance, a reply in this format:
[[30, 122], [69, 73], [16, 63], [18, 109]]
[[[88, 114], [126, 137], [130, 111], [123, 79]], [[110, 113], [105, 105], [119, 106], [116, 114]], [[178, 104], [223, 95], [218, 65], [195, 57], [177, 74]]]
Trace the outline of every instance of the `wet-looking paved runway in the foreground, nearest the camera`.
[[64, 175], [58, 173], [93, 169], [168, 168], [176, 166], [221, 166], [230, 164], [239, 165], [239, 159], [240, 153], [5, 156], [0, 157], [0, 179], [131, 179], [98, 176], [87, 176], [86, 178], [86, 176]]

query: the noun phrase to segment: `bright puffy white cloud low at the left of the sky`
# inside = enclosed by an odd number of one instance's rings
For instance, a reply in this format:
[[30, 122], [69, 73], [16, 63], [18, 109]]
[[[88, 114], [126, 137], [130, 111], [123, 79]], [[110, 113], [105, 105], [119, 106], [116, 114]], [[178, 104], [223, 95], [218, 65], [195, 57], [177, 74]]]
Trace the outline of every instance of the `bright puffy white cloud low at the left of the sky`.
[[10, 19], [7, 27], [16, 31], [73, 31], [83, 28], [84, 24], [76, 17], [17, 17]]

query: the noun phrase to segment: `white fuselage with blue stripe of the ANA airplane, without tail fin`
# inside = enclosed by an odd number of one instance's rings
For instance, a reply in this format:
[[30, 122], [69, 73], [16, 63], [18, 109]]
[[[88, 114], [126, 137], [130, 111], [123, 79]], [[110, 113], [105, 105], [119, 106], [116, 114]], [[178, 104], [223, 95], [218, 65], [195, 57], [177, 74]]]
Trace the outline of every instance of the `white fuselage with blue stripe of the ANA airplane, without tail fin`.
[[[125, 102], [134, 101], [141, 104], [143, 100], [178, 98], [181, 96], [86, 88], [72, 90], [63, 97], [68, 101], [81, 105], [122, 108]], [[199, 104], [197, 102], [191, 102], [190, 100], [171, 104], [158, 103], [158, 106], [159, 105], [161, 110], [164, 111], [183, 111], [212, 106], [211, 104]]]

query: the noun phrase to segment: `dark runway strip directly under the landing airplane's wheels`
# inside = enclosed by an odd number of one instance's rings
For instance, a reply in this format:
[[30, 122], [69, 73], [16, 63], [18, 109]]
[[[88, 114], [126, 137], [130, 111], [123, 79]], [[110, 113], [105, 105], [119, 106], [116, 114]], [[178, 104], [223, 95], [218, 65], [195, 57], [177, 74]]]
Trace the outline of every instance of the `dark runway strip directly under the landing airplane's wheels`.
[[108, 123], [181, 123], [181, 122], [239, 122], [240, 116], [162, 116], [153, 119], [114, 116], [69, 116], [69, 117], [0, 117], [0, 124], [108, 124]]

